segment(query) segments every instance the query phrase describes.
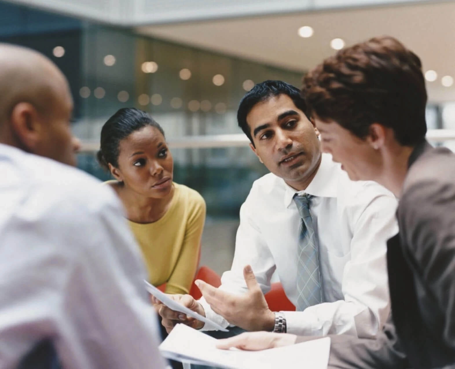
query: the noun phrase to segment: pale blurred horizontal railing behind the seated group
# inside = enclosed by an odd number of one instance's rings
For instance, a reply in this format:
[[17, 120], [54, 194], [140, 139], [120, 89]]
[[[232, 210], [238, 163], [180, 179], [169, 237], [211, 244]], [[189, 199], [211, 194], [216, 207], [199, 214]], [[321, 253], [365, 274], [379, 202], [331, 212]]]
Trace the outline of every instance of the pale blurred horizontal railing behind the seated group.
[[[429, 130], [426, 137], [431, 142], [455, 140], [455, 130]], [[183, 136], [170, 138], [167, 142], [172, 149], [207, 149], [247, 146], [250, 141], [246, 135], [240, 133], [232, 135]], [[83, 141], [81, 152], [96, 152], [99, 147], [99, 141]]]

